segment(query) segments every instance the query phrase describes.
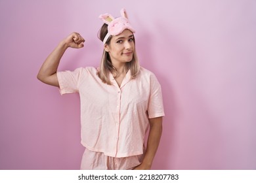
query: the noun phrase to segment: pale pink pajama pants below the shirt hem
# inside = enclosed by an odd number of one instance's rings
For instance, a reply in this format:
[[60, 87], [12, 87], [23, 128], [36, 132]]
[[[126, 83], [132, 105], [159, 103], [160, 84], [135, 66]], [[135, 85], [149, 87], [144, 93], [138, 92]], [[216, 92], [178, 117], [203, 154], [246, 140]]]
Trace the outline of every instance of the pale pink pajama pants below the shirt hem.
[[115, 158], [106, 156], [103, 152], [85, 149], [81, 161], [81, 170], [132, 170], [140, 163], [144, 154]]

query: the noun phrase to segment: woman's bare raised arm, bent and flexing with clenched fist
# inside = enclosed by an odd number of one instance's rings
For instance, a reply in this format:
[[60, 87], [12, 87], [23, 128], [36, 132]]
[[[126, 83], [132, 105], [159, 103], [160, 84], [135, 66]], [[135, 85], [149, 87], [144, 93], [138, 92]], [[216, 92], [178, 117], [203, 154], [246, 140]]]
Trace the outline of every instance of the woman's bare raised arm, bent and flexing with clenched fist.
[[79, 33], [72, 33], [66, 37], [66, 39], [61, 41], [58, 46], [54, 48], [53, 52], [51, 52], [47, 59], [45, 59], [39, 73], [37, 74], [37, 78], [45, 84], [59, 87], [56, 72], [60, 59], [68, 48], [83, 48], [83, 42], [85, 42], [85, 40], [79, 35]]

